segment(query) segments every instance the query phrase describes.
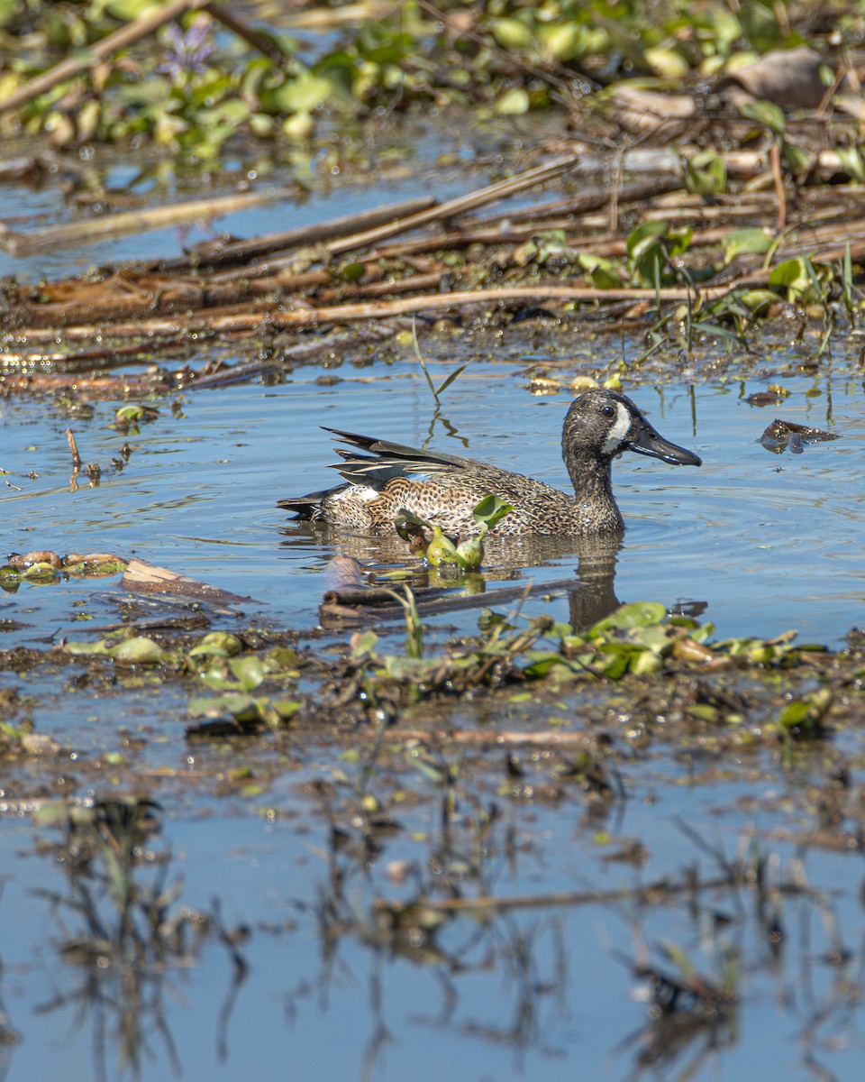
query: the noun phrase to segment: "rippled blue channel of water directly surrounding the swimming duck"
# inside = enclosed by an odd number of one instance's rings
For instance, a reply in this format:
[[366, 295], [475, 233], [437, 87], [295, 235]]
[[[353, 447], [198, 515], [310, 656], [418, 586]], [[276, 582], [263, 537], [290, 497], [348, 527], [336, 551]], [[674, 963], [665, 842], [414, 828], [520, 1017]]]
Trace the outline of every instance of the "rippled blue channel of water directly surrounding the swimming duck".
[[[22, 492], [2, 493], [10, 550], [112, 550], [267, 603], [275, 619], [315, 623], [324, 566], [335, 553], [369, 562], [395, 556], [390, 541], [341, 539], [310, 531], [275, 506], [334, 480], [332, 437], [319, 425], [381, 434], [494, 461], [561, 487], [567, 397], [533, 397], [510, 366], [481, 367], [447, 393], [434, 422], [431, 399], [411, 360], [377, 371], [340, 369], [343, 382], [316, 383], [320, 369], [292, 382], [190, 394], [183, 417], [164, 406], [141, 434], [107, 427], [114, 406], [94, 404], [86, 422], [58, 418], [50, 401], [0, 405], [3, 466]], [[773, 635], [795, 628], [809, 639], [835, 642], [863, 619], [865, 494], [861, 446], [862, 387], [829, 381], [813, 395], [810, 378], [784, 380], [790, 397], [758, 409], [743, 396], [761, 384], [675, 384], [626, 387], [653, 423], [692, 447], [700, 470], [625, 454], [614, 464], [615, 492], [627, 523], [617, 555], [621, 601], [702, 602], [720, 633]], [[829, 413], [830, 408], [830, 413]], [[840, 436], [801, 454], [774, 454], [758, 441], [773, 417]], [[67, 424], [85, 461], [107, 466], [129, 439], [120, 473], [97, 488], [68, 487]], [[24, 477], [34, 470], [35, 480]], [[577, 566], [572, 546], [544, 559], [527, 550], [522, 575], [542, 581]], [[398, 555], [398, 552], [397, 552]], [[491, 551], [491, 564], [495, 564]], [[501, 560], [500, 560], [501, 564]], [[495, 571], [510, 578], [514, 568]], [[25, 606], [62, 620], [68, 595], [86, 584], [23, 586], [0, 602], [6, 616]], [[35, 615], [29, 617], [36, 621]]]

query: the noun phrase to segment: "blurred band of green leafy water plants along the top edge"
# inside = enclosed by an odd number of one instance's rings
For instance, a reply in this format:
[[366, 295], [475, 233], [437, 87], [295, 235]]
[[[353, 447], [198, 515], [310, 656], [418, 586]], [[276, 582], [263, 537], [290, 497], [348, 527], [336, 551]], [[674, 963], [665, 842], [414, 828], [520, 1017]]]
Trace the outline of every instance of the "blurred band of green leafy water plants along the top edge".
[[[150, 6], [150, 0], [0, 0], [0, 44], [12, 54], [0, 95]], [[450, 17], [438, 22], [415, 3], [400, 4], [383, 19], [322, 36], [311, 52], [268, 30], [281, 63], [253, 52], [209, 14], [191, 13], [149, 42], [94, 64], [74, 84], [42, 94], [21, 119], [26, 131], [48, 131], [59, 145], [144, 135], [212, 158], [238, 131], [306, 140], [323, 111], [357, 116], [431, 100], [519, 114], [550, 104], [557, 87], [578, 93], [583, 71], [603, 82], [635, 72], [713, 75], [737, 52], [756, 55], [801, 40], [780, 22], [782, 9], [763, 0], [746, 0], [735, 12], [722, 3], [694, 10], [683, 0], [663, 9], [609, 0], [485, 0], [470, 12], [447, 2], [442, 9]], [[320, 25], [329, 29], [327, 21]], [[15, 48], [25, 37], [28, 48]]]

